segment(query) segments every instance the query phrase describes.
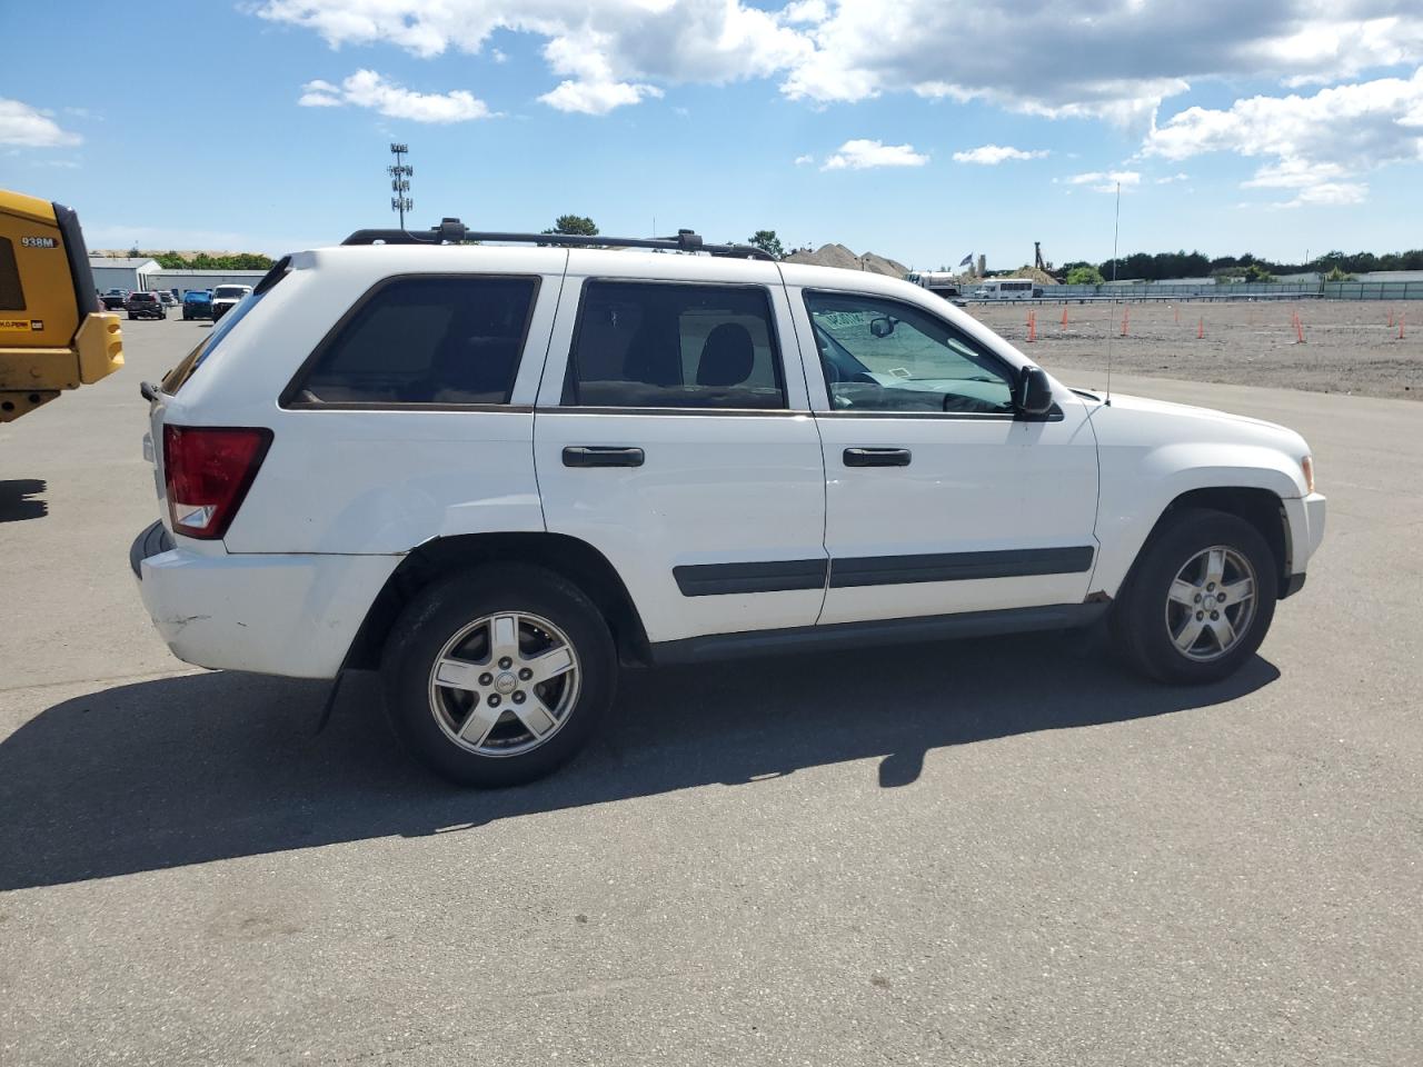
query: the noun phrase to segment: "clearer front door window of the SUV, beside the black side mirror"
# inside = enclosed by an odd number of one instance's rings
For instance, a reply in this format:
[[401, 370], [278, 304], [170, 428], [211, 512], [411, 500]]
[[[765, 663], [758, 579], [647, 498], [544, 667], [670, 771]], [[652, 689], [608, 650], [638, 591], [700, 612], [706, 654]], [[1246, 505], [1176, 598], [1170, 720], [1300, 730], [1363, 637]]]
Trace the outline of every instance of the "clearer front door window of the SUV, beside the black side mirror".
[[820, 364], [837, 411], [1013, 414], [1012, 368], [912, 304], [807, 292]]

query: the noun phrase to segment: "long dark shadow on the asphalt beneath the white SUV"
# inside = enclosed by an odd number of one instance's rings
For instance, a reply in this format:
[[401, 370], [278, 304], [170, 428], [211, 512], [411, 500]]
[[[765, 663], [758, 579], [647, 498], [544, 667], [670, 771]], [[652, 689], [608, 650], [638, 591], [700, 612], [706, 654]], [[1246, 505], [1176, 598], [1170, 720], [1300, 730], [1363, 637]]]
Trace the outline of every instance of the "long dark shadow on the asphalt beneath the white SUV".
[[626, 671], [602, 736], [554, 777], [458, 790], [394, 744], [379, 679], [208, 673], [65, 700], [0, 743], [0, 891], [606, 804], [879, 758], [878, 787], [945, 745], [1221, 704], [1279, 671], [1154, 686], [1097, 635], [1039, 635]]

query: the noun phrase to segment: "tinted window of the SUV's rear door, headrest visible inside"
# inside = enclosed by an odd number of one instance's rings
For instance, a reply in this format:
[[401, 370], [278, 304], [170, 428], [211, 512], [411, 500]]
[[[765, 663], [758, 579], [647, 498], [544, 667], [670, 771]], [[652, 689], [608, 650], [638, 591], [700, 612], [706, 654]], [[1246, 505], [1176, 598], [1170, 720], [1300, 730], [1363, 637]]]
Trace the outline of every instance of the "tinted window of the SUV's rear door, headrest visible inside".
[[766, 290], [588, 282], [564, 404], [784, 408]]

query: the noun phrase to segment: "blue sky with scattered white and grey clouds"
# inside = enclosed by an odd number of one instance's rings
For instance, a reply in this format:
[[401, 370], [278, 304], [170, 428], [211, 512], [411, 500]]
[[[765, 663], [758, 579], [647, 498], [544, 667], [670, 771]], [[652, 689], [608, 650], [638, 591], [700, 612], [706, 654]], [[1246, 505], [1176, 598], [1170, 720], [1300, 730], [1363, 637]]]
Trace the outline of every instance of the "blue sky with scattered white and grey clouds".
[[[1116, 175], [1123, 253], [1423, 243], [1423, 7], [1238, 9], [57, 3], [95, 28], [9, 50], [0, 185], [75, 206], [95, 248], [277, 253], [386, 225], [400, 139], [418, 225], [575, 212], [1013, 267], [1035, 239], [1107, 258]], [[4, 6], [0, 38], [30, 21]]]

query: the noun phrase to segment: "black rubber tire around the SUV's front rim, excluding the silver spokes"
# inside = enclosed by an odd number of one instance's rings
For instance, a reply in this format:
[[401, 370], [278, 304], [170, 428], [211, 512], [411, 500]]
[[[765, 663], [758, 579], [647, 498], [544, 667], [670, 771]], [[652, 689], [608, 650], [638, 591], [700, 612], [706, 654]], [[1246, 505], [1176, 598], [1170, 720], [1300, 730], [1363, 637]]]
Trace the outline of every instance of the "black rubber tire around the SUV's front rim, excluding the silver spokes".
[[[1244, 605], [1201, 605], [1205, 625], [1210, 626], [1212, 607], [1227, 617], [1245, 619], [1244, 632], [1238, 635], [1224, 654], [1211, 652], [1215, 640], [1202, 635], [1198, 656], [1192, 659], [1177, 647], [1170, 622], [1175, 617], [1187, 625], [1190, 609], [1170, 609], [1171, 585], [1184, 566], [1202, 552], [1224, 546], [1241, 556], [1254, 572], [1254, 605], [1245, 613]], [[1255, 654], [1269, 623], [1275, 617], [1275, 600], [1279, 593], [1278, 563], [1265, 538], [1251, 524], [1235, 515], [1204, 508], [1190, 508], [1173, 515], [1168, 524], [1158, 529], [1141, 555], [1137, 558], [1117, 602], [1113, 606], [1110, 629], [1117, 649], [1128, 664], [1147, 677], [1171, 684], [1200, 686], [1229, 677]], [[1202, 595], [1210, 596], [1202, 590]]]

